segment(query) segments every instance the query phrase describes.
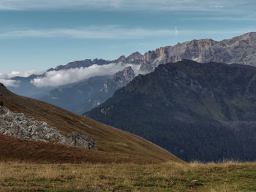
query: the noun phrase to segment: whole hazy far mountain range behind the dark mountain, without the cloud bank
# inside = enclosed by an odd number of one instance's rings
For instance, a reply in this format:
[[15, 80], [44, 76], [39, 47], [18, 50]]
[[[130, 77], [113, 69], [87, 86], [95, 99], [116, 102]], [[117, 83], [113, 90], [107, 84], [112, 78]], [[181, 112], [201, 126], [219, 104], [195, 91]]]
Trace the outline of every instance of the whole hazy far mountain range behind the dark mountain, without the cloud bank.
[[[199, 39], [189, 42], [178, 43], [174, 46], [159, 47], [157, 50], [148, 51], [144, 55], [138, 52], [132, 53], [128, 57], [124, 55], [113, 61], [104, 59], [85, 59], [83, 61], [70, 62], [67, 65], [57, 66], [55, 69], [48, 69], [44, 74], [31, 75], [29, 77], [12, 77], [11, 80], [19, 82], [18, 87], [8, 87], [10, 91], [22, 96], [29, 96], [34, 99], [48, 101], [59, 107], [63, 107], [72, 112], [82, 114], [93, 107], [97, 107], [102, 101], [110, 98], [113, 92], [122, 85], [112, 88], [112, 91], [101, 91], [106, 82], [111, 82], [115, 74], [90, 77], [69, 85], [57, 87], [39, 87], [31, 84], [31, 80], [37, 77], [45, 77], [48, 72], [67, 71], [69, 69], [86, 68], [92, 65], [103, 66], [109, 64], [126, 64], [139, 68], [140, 74], [153, 72], [159, 64], [176, 62], [181, 59], [189, 59], [201, 63], [214, 61], [226, 64], [256, 64], [256, 33], [243, 34], [232, 39], [225, 39], [220, 42], [212, 39]], [[102, 69], [104, 70], [104, 69]], [[135, 72], [135, 75], [138, 72]]]

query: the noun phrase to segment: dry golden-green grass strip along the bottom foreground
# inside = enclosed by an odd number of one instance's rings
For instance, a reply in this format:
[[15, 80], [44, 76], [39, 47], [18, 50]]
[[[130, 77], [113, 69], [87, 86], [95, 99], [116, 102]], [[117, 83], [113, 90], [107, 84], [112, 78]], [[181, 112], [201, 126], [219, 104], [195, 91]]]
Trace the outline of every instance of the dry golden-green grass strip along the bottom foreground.
[[256, 163], [0, 163], [0, 191], [256, 191]]

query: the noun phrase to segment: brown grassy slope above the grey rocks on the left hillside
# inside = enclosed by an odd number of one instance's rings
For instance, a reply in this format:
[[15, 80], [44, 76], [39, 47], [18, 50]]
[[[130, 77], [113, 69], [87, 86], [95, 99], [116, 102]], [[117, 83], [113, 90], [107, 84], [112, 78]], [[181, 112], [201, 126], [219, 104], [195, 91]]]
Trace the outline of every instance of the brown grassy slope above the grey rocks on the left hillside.
[[100, 151], [121, 153], [145, 158], [147, 161], [159, 163], [163, 161], [178, 161], [180, 159], [166, 150], [142, 139], [141, 137], [106, 126], [90, 118], [75, 115], [72, 112], [55, 107], [35, 99], [18, 96], [0, 85], [0, 101], [12, 111], [24, 112], [37, 120], [43, 120], [64, 134], [79, 131], [97, 140]]

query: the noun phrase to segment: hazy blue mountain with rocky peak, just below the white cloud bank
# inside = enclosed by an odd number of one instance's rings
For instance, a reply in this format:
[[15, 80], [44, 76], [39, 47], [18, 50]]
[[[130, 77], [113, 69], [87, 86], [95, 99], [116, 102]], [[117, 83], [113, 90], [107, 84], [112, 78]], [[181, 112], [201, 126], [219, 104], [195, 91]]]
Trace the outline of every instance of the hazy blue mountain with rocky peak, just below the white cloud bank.
[[134, 77], [132, 67], [128, 66], [113, 77], [91, 77], [83, 82], [53, 89], [39, 100], [82, 114], [110, 98], [118, 88], [127, 85]]

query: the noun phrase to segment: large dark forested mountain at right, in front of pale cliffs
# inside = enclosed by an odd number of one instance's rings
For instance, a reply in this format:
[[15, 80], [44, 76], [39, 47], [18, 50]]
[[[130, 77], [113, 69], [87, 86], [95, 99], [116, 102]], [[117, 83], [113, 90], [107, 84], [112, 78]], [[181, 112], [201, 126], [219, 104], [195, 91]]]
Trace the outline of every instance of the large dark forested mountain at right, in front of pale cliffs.
[[256, 67], [188, 60], [159, 65], [85, 115], [185, 161], [255, 161]]

